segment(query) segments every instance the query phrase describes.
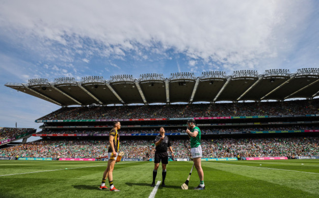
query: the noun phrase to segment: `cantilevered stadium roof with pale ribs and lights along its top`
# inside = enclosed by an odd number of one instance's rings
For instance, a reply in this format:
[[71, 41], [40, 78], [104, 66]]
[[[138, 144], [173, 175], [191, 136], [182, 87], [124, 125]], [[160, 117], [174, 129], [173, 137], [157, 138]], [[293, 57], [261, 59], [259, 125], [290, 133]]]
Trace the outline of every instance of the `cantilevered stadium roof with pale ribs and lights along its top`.
[[11, 87], [57, 105], [151, 104], [176, 102], [217, 102], [245, 100], [285, 100], [319, 96], [319, 68], [203, 72], [195, 77], [188, 72], [162, 74], [83, 77], [81, 81], [63, 77], [49, 82], [31, 79], [28, 83], [7, 83]]

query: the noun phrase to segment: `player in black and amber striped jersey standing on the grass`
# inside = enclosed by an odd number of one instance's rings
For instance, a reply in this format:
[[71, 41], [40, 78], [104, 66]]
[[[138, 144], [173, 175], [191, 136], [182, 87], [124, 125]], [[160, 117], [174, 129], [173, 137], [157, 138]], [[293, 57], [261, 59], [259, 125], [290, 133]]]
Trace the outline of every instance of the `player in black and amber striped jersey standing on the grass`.
[[105, 182], [106, 182], [106, 177], [108, 177], [108, 183], [109, 183], [109, 190], [110, 191], [114, 191], [114, 192], [118, 192], [120, 190], [116, 189], [113, 185], [113, 169], [114, 169], [114, 165], [116, 162], [116, 156], [117, 156], [117, 152], [119, 149], [119, 134], [117, 133], [117, 130], [119, 130], [121, 128], [121, 123], [120, 122], [114, 122], [113, 125], [113, 129], [110, 131], [109, 133], [109, 148], [108, 148], [108, 161], [107, 161], [107, 168], [103, 173], [103, 178], [102, 178], [102, 184], [100, 186], [101, 190], [107, 189], [107, 187], [105, 186]]

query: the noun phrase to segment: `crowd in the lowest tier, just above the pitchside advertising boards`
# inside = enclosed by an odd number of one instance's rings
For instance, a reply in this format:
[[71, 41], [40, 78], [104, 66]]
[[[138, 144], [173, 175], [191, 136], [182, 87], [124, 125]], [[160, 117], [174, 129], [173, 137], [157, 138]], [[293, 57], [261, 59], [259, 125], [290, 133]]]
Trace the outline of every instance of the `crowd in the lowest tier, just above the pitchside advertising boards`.
[[[189, 158], [189, 140], [171, 140], [175, 158]], [[108, 141], [34, 141], [0, 149], [0, 157], [98, 158], [107, 155]], [[203, 158], [319, 156], [319, 137], [202, 139]], [[154, 141], [120, 142], [125, 158], [154, 157]]]

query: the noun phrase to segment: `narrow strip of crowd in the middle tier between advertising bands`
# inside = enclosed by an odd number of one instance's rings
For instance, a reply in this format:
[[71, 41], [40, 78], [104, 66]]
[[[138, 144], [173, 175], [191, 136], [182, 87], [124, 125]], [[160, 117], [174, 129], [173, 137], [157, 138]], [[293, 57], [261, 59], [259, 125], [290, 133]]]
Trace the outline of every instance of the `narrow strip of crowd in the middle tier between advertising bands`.
[[[307, 126], [307, 125], [292, 125], [292, 126], [233, 126], [233, 127], [201, 127], [201, 131], [204, 133], [212, 132], [251, 132], [251, 131], [287, 131], [287, 130], [313, 130], [319, 129], [319, 126]], [[125, 129], [122, 128], [119, 134], [136, 134], [136, 133], [159, 133], [160, 127], [155, 129]], [[183, 128], [165, 128], [166, 133], [185, 133]], [[108, 134], [109, 129], [85, 129], [85, 130], [50, 130], [44, 129], [39, 134]]]

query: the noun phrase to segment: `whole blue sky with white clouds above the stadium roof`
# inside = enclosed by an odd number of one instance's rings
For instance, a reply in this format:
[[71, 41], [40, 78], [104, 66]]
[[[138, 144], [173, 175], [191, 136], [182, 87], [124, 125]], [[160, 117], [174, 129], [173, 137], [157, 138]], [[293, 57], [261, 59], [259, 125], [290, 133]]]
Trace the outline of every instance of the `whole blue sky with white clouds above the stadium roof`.
[[6, 83], [312, 67], [318, 0], [0, 0], [0, 127], [60, 108]]

